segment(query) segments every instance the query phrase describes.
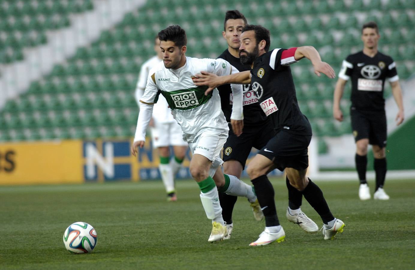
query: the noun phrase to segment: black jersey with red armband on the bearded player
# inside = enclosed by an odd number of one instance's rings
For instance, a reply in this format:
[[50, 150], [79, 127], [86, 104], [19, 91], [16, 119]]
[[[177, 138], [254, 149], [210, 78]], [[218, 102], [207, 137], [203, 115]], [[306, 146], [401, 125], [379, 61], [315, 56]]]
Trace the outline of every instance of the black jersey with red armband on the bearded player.
[[271, 118], [277, 132], [285, 130], [298, 135], [312, 135], [310, 122], [298, 107], [288, 66], [296, 62], [295, 49], [274, 49], [259, 56], [251, 70], [251, 85], [262, 113]]

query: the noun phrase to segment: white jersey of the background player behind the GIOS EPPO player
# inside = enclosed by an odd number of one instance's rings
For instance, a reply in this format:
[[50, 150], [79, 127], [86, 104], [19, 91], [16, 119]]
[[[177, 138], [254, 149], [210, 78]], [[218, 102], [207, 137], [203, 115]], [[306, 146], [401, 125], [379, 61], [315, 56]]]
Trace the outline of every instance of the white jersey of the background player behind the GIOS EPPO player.
[[[139, 103], [139, 100], [143, 96], [150, 69], [152, 69], [154, 66], [159, 64], [161, 61], [162, 60], [159, 57], [153, 56], [147, 61], [145, 61], [144, 64], [142, 64], [141, 70], [138, 76], [137, 87], [135, 89], [135, 99], [137, 103]], [[174, 120], [173, 118], [173, 115], [171, 115], [171, 110], [168, 108], [166, 98], [164, 98], [163, 96], [160, 96], [157, 103], [154, 104], [152, 117], [157, 123], [175, 123], [176, 122], [176, 120]]]

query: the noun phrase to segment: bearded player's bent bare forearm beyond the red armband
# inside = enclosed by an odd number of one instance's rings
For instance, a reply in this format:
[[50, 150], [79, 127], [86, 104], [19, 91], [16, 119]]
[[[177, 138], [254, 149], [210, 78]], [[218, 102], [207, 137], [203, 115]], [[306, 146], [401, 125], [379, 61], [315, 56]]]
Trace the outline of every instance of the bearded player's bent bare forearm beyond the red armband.
[[320, 73], [323, 73], [331, 79], [336, 77], [336, 74], [334, 73], [334, 69], [326, 62], [321, 61], [320, 54], [317, 52], [317, 50], [314, 47], [312, 46], [298, 47], [294, 54], [295, 60], [298, 61], [304, 57], [311, 61], [312, 65], [314, 66], [314, 73], [317, 76], [320, 77], [321, 76]]

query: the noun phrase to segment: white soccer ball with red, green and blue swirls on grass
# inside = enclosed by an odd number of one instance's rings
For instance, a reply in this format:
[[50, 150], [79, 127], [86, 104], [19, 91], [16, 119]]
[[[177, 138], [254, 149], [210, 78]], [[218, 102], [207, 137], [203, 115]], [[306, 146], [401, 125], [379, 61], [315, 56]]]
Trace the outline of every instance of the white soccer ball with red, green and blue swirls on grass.
[[97, 245], [97, 232], [85, 222], [75, 222], [63, 233], [65, 248], [71, 253], [88, 253]]

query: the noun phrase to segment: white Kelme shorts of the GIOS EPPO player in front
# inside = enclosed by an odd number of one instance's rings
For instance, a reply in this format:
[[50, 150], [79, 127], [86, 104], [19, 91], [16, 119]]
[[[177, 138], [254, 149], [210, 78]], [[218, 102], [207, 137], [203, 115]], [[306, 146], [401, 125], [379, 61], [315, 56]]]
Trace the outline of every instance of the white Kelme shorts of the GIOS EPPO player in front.
[[215, 175], [217, 167], [223, 163], [223, 160], [220, 158], [220, 152], [222, 151], [227, 138], [227, 133], [204, 129], [196, 135], [193, 142], [189, 142], [192, 155], [199, 154], [212, 161], [212, 166], [210, 166], [209, 169], [210, 177]]

